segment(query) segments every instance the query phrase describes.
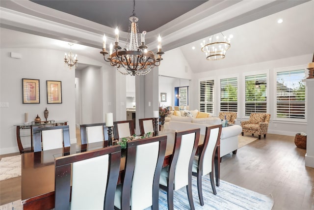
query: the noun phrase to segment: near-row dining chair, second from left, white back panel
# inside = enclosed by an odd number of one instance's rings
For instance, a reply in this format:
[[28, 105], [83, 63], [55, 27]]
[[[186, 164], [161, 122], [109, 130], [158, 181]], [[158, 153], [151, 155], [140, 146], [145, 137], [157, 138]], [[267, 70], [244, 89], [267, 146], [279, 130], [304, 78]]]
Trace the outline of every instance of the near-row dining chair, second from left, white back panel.
[[127, 143], [125, 177], [117, 187], [117, 209], [158, 209], [159, 179], [167, 136], [132, 140]]

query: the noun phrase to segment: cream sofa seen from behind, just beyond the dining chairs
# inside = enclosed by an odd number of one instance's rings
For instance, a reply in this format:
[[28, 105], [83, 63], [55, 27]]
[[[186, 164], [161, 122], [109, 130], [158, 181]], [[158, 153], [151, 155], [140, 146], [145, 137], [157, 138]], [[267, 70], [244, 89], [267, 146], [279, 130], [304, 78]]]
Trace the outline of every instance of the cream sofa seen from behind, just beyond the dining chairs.
[[[221, 121], [221, 120], [220, 120]], [[219, 123], [218, 123], [219, 124]], [[213, 125], [213, 124], [211, 124]], [[201, 137], [204, 138], [206, 127], [210, 124], [200, 124], [192, 122], [182, 122], [170, 120], [163, 125], [164, 132], [168, 130], [188, 130], [193, 128], [201, 128]], [[238, 147], [237, 136], [241, 133], [242, 128], [240, 125], [232, 125], [223, 127], [220, 136], [220, 157], [229, 154], [230, 152], [236, 153]]]

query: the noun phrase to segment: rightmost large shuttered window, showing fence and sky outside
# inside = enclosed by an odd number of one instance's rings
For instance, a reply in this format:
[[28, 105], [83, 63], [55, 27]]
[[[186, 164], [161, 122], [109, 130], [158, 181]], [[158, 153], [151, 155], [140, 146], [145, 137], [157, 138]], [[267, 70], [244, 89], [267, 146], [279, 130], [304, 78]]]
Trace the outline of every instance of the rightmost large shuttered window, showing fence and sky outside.
[[304, 78], [304, 70], [277, 72], [277, 118], [305, 119]]

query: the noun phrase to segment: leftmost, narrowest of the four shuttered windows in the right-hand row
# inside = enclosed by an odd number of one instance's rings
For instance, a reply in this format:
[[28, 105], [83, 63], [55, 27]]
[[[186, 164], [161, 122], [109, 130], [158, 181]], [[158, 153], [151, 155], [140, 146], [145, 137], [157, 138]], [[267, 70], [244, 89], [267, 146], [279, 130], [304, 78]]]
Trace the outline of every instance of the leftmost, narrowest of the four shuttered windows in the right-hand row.
[[214, 80], [200, 81], [200, 111], [214, 112]]

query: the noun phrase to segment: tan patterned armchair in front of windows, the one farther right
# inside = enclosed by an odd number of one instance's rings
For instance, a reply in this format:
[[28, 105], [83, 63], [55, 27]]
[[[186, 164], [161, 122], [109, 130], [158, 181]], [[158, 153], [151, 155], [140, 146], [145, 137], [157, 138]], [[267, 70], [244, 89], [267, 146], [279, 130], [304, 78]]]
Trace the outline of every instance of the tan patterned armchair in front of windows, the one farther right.
[[259, 139], [261, 139], [261, 135], [266, 137], [268, 124], [270, 120], [270, 114], [267, 113], [251, 113], [250, 119], [246, 121], [241, 121], [242, 127], [242, 136], [243, 133], [252, 133], [259, 135]]

